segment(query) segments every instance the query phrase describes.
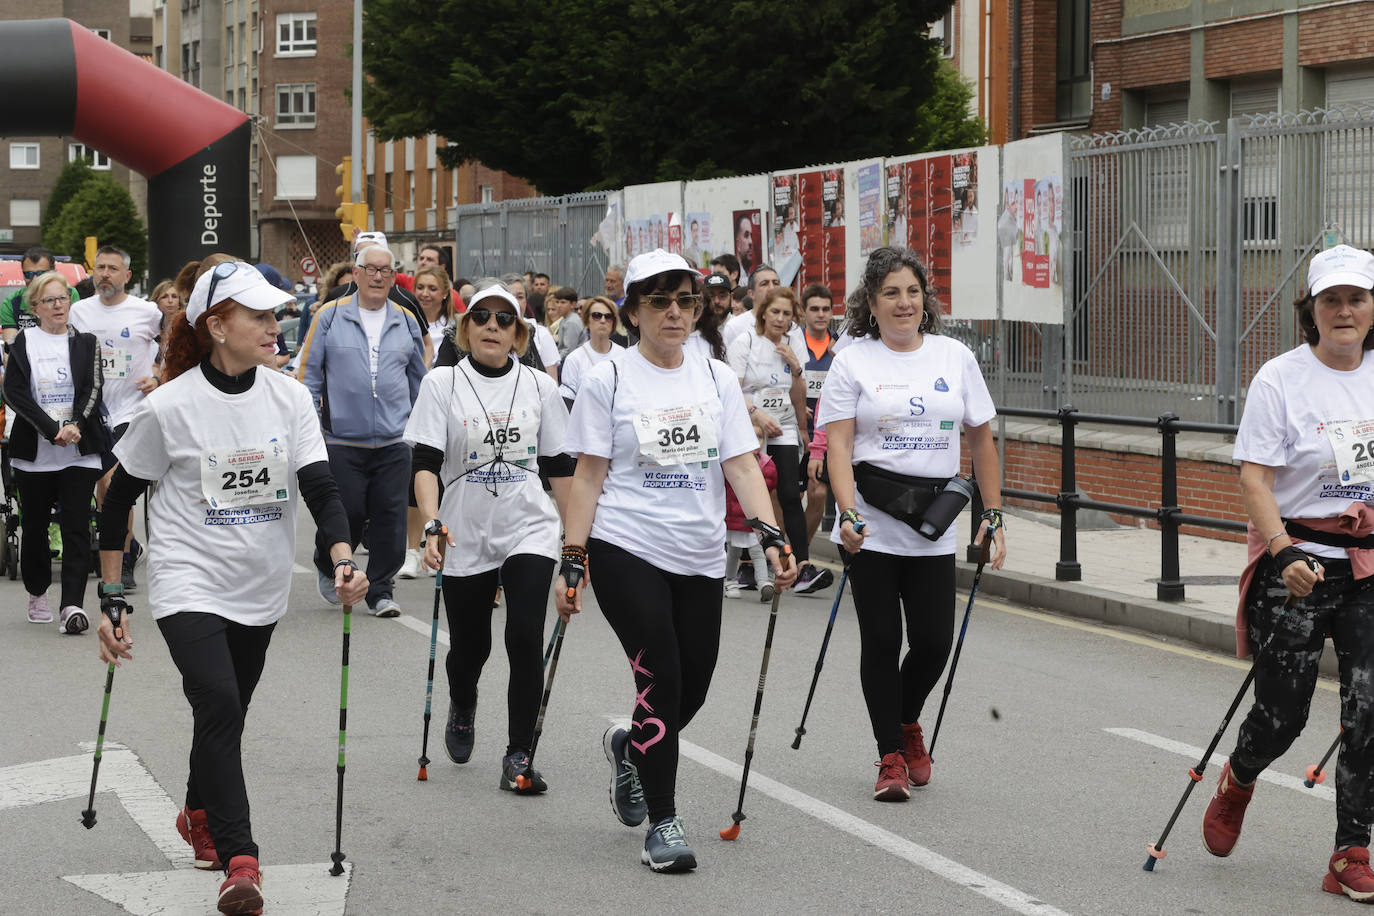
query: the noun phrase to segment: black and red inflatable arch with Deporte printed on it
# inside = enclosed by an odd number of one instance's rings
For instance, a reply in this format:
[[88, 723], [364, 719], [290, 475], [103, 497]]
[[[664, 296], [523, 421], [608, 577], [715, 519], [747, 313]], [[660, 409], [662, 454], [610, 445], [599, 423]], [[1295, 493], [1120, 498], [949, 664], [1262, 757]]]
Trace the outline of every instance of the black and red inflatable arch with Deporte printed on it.
[[70, 19], [0, 22], [0, 135], [70, 136], [148, 179], [154, 279], [249, 257], [249, 115]]

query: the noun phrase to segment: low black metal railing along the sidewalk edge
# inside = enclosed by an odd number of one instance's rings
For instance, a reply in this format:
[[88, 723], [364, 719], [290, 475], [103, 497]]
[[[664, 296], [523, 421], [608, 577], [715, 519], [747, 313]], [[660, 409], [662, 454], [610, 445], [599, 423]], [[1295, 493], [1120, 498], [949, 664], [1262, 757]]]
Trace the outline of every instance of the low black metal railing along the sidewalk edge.
[[[1059, 508], [1059, 559], [1054, 564], [1054, 578], [1059, 582], [1077, 582], [1083, 578], [1083, 566], [1079, 563], [1079, 509], [1098, 509], [1114, 515], [1129, 515], [1134, 518], [1154, 519], [1160, 525], [1160, 578], [1156, 584], [1156, 597], [1161, 602], [1182, 602], [1184, 595], [1183, 580], [1179, 575], [1179, 529], [1184, 525], [1208, 527], [1219, 531], [1245, 533], [1245, 522], [1232, 519], [1219, 519], [1206, 515], [1184, 512], [1179, 505], [1179, 433], [1219, 433], [1235, 435], [1237, 427], [1227, 423], [1195, 423], [1182, 420], [1175, 413], [1161, 413], [1150, 419], [1147, 416], [1113, 416], [1106, 413], [1080, 413], [1073, 407], [1062, 407], [1058, 411], [1041, 411], [1033, 408], [999, 408], [1000, 416], [1013, 416], [1035, 420], [1052, 420], [1062, 427], [1059, 439], [1059, 492], [1040, 493], [1037, 490], [1022, 490], [1015, 488], [1002, 488], [1003, 500], [1028, 500], [1032, 503], [1051, 503]], [[1162, 437], [1160, 455], [1160, 504], [1127, 505], [1124, 503], [1107, 503], [1091, 500], [1077, 490], [1077, 456], [1074, 453], [1074, 428], [1079, 423], [1096, 423], [1106, 426], [1127, 426], [1136, 428], [1153, 428]], [[978, 488], [974, 488], [970, 511], [973, 525], [970, 533], [978, 531], [978, 518], [982, 515], [982, 500]], [[967, 548], [970, 563], [978, 562], [980, 549], [973, 544]]]

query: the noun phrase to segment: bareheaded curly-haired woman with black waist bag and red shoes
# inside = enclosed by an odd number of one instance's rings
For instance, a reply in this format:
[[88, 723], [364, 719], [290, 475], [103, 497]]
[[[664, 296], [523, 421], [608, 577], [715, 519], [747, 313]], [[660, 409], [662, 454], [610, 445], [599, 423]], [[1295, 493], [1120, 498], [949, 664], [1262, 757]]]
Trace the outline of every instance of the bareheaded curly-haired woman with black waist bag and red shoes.
[[[826, 427], [840, 509], [830, 540], [851, 555], [859, 680], [878, 742], [874, 798], [905, 801], [908, 783], [930, 780], [918, 720], [954, 640], [959, 542], [954, 515], [945, 527], [918, 529], [927, 511], [937, 514], [937, 494], [948, 492], [948, 500], [962, 490], [967, 501], [971, 493], [956, 477], [962, 426], [989, 507], [978, 542], [991, 530], [992, 569], [1000, 569], [1002, 475], [988, 427], [996, 409], [973, 353], [940, 334], [940, 304], [915, 254], [896, 247], [870, 254], [848, 309], [848, 334], [857, 339], [830, 365], [816, 424]], [[907, 652], [899, 665], [903, 619]]]

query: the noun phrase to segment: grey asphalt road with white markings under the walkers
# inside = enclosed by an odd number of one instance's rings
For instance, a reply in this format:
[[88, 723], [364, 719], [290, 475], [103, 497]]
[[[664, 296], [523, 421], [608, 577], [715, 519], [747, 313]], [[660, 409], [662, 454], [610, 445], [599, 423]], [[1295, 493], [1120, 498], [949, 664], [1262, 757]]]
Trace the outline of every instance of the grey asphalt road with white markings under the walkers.
[[[304, 569], [308, 541], [300, 544]], [[180, 806], [191, 721], [146, 608], [135, 618], [136, 661], [115, 676], [110, 709], [109, 740], [128, 751], [107, 755], [102, 783], [122, 794], [98, 794], [99, 824], [87, 831], [78, 820], [89, 754], [69, 758], [95, 739], [104, 666], [92, 636], [27, 623], [18, 582], [0, 584], [0, 913], [213, 913], [218, 878], [192, 872], [174, 834], [168, 838], [165, 812]], [[1167, 845], [1169, 857], [1146, 873], [1146, 845], [1239, 685], [1239, 663], [980, 599], [933, 781], [907, 803], [879, 803], [871, 801], [877, 753], [848, 595], [808, 735], [801, 750], [790, 747], [833, 597], [834, 588], [782, 602], [747, 820], [732, 843], [717, 832], [735, 809], [768, 614], [756, 596], [725, 602], [720, 665], [706, 707], [684, 735], [679, 770], [679, 812], [701, 865], [661, 876], [639, 864], [643, 831], [620, 825], [607, 805], [600, 735], [611, 718], [628, 717], [633, 691], [595, 602], [569, 629], [539, 748], [550, 791], [523, 798], [497, 790], [507, 673], [499, 636], [482, 676], [473, 761], [455, 766], [442, 753], [441, 662], [434, 762], [429, 781], [416, 780], [433, 580], [398, 582], [403, 618], [354, 614], [342, 842], [352, 871], [328, 878], [342, 615], [319, 599], [313, 573], [297, 573], [243, 743], [267, 912], [338, 913], [345, 890], [350, 915], [1355, 906], [1319, 890], [1334, 780], [1316, 791], [1296, 784], [1336, 735], [1333, 684], [1318, 689], [1314, 725], [1271, 770], [1289, 784], [1267, 781], [1256, 792], [1235, 854], [1213, 858], [1200, 842], [1213, 765]], [[951, 612], [962, 614], [963, 600]], [[502, 618], [497, 610], [493, 625]], [[550, 612], [550, 632], [552, 621]], [[937, 706], [938, 688], [923, 715], [927, 733]], [[1232, 736], [1234, 726], [1223, 753]], [[129, 891], [136, 900], [121, 906], [78, 886], [102, 883], [151, 890]], [[169, 902], [176, 887], [196, 902]]]

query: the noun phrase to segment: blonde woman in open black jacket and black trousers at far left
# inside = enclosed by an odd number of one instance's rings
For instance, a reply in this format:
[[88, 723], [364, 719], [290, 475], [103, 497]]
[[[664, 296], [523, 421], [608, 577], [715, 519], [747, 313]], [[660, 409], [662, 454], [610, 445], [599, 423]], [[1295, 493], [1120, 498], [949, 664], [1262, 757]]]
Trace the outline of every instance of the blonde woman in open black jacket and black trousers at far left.
[[48, 519], [62, 511], [60, 632], [82, 633], [91, 571], [91, 496], [100, 478], [104, 426], [100, 422], [100, 347], [95, 335], [67, 325], [71, 299], [60, 273], [34, 277], [25, 290], [38, 325], [10, 345], [4, 400], [14, 412], [10, 463], [23, 507], [19, 570], [29, 592], [29, 622], [51, 623]]

